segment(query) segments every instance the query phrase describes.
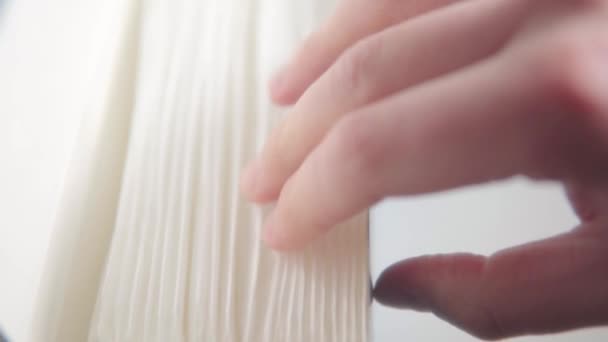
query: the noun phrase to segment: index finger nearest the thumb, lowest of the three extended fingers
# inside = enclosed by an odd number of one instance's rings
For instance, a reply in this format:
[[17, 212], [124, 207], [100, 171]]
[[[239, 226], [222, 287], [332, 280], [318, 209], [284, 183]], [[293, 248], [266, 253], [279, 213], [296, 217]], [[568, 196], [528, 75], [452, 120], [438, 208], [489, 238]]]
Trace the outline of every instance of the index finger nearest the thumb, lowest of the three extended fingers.
[[503, 53], [344, 117], [281, 190], [264, 239], [303, 246], [386, 196], [518, 174], [575, 179], [584, 166], [605, 175], [587, 118], [608, 116], [579, 115], [608, 115], [598, 105], [608, 84], [594, 76], [603, 58], [564, 46]]

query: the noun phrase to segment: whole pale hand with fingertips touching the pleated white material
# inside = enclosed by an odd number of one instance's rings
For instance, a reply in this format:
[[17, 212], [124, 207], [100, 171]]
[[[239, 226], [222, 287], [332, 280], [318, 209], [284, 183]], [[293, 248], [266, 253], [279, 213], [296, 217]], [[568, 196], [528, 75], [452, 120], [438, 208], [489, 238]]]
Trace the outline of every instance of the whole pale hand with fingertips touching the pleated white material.
[[270, 247], [387, 196], [558, 181], [571, 231], [404, 260], [374, 296], [485, 339], [608, 324], [608, 1], [343, 0], [270, 92], [294, 106], [242, 179]]

